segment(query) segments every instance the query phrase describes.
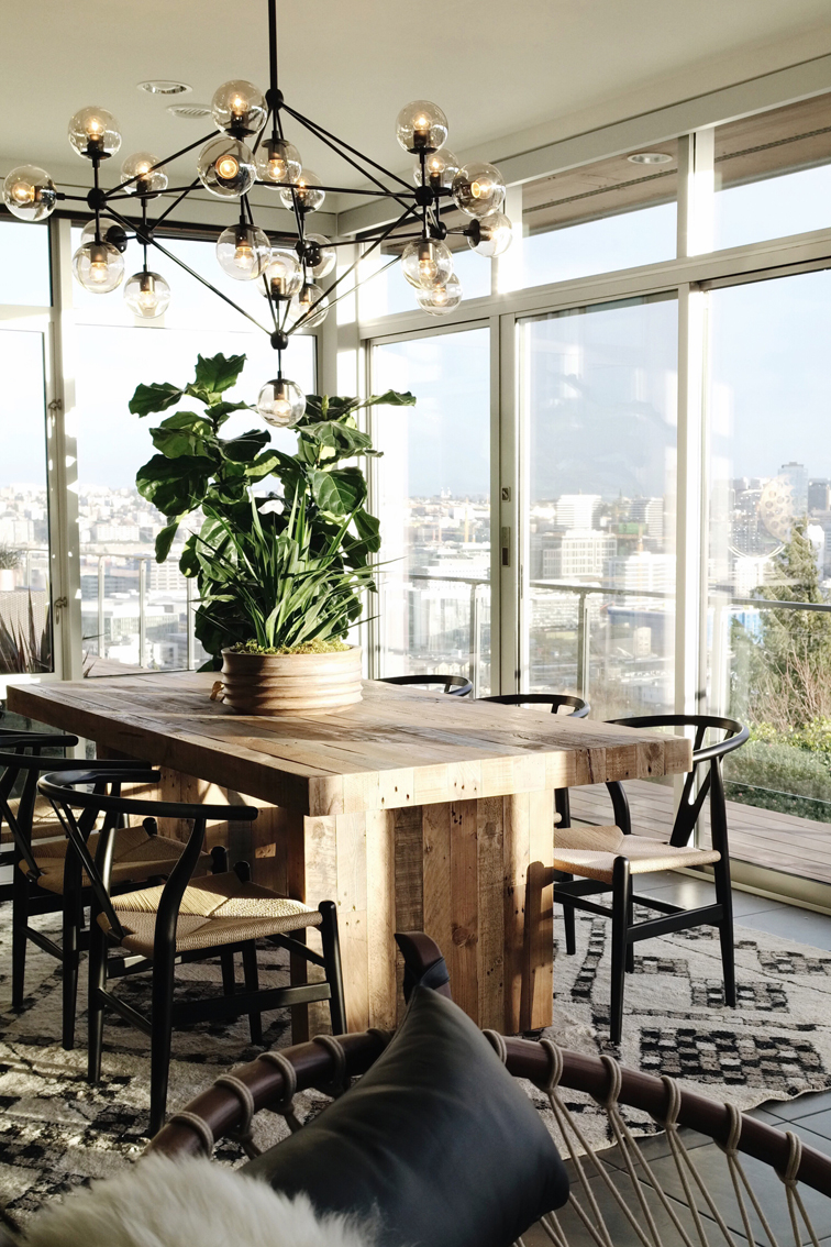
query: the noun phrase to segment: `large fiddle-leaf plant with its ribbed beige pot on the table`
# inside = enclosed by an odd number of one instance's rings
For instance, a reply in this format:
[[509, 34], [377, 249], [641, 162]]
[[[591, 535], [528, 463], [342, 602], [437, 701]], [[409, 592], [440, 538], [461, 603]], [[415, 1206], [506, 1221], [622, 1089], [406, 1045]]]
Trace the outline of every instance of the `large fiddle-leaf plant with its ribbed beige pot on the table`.
[[[136, 476], [138, 491], [166, 516], [156, 539], [163, 562], [188, 516], [201, 513], [179, 559], [196, 577], [196, 635], [222, 666], [224, 700], [240, 713], [326, 712], [360, 700], [360, 647], [346, 643], [363, 594], [375, 591], [379, 521], [365, 509], [366, 480], [346, 460], [379, 451], [355, 413], [411, 394], [306, 397], [295, 425], [297, 454], [270, 445], [267, 429], [223, 438], [244, 355], [198, 357], [186, 387], [140, 385], [140, 416], [197, 399], [202, 413], [177, 410], [151, 429], [158, 451]], [[278, 488], [269, 490], [269, 483]]]

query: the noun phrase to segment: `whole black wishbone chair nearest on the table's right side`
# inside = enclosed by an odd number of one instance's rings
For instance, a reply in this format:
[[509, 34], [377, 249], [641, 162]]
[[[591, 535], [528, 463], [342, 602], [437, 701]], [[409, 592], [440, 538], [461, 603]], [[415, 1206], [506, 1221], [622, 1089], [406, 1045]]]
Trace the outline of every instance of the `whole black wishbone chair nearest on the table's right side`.
[[[730, 890], [730, 848], [728, 814], [724, 797], [721, 762], [728, 753], [740, 748], [750, 736], [746, 727], [731, 718], [714, 715], [645, 715], [615, 718], [609, 722], [622, 727], [685, 727], [694, 728], [693, 766], [684, 781], [681, 799], [669, 840], [632, 834], [632, 817], [624, 787], [607, 783], [614, 824], [571, 827], [562, 823], [554, 829], [553, 869], [532, 867], [528, 872], [528, 929], [539, 920], [541, 892], [553, 883], [553, 899], [563, 907], [566, 951], [576, 951], [574, 910], [582, 909], [612, 919], [612, 1003], [609, 1034], [619, 1044], [623, 1034], [623, 986], [627, 973], [634, 970], [634, 945], [639, 940], [686, 930], [690, 927], [719, 928], [724, 1000], [736, 1004], [736, 980], [733, 943], [733, 894]], [[720, 733], [720, 739], [706, 744], [706, 733]], [[710, 799], [710, 834], [713, 847], [699, 849], [691, 844], [693, 833], [704, 802]], [[686, 867], [711, 865], [715, 903], [696, 909], [684, 909], [667, 900], [639, 897], [633, 892], [632, 878]], [[578, 878], [576, 879], [574, 875]], [[612, 905], [599, 905], [589, 897], [612, 892]], [[655, 910], [659, 917], [635, 922], [633, 907]]]

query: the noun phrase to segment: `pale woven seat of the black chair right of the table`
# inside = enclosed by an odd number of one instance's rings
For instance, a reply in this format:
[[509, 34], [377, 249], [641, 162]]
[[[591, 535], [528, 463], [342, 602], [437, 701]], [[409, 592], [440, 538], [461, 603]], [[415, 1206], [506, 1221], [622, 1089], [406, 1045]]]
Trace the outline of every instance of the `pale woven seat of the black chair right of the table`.
[[675, 848], [648, 835], [624, 835], [619, 827], [566, 827], [554, 834], [554, 870], [612, 884], [615, 857], [629, 859], [632, 874], [677, 870], [718, 862], [716, 849]]

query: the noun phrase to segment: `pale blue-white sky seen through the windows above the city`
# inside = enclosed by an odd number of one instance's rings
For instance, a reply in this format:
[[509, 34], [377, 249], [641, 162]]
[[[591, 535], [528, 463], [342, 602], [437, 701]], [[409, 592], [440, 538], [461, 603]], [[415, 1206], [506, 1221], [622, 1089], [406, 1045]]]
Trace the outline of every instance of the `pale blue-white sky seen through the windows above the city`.
[[[770, 178], [716, 196], [716, 246], [736, 246], [829, 224], [831, 166]], [[675, 206], [574, 226], [526, 239], [528, 284], [566, 279], [672, 256]], [[0, 223], [0, 302], [41, 303], [47, 288], [46, 231]], [[183, 243], [193, 267], [217, 279], [211, 244]], [[136, 251], [135, 246], [132, 251]], [[187, 254], [186, 254], [187, 253]], [[128, 253], [128, 272], [140, 256]], [[151, 453], [148, 421], [126, 409], [138, 382], [187, 380], [198, 350], [245, 352], [239, 395], [255, 402], [273, 373], [267, 335], [154, 256], [174, 289], [163, 330], [132, 328], [120, 293], [78, 292], [76, 375], [81, 483], [130, 485]], [[490, 266], [460, 261], [468, 297], [485, 293]], [[389, 311], [411, 306], [397, 271], [376, 278]], [[228, 282], [240, 294], [242, 283]], [[481, 287], [481, 288], [480, 288]], [[258, 318], [265, 304], [248, 289]], [[406, 299], [406, 303], [404, 302]], [[105, 325], [96, 320], [106, 317]], [[675, 309], [670, 303], [618, 307], [564, 317], [521, 330], [528, 350], [525, 409], [529, 420], [532, 495], [664, 493], [674, 439]], [[774, 475], [789, 460], [810, 476], [831, 478], [831, 276], [805, 273], [710, 293], [714, 448], [730, 475]], [[287, 359], [302, 388], [313, 385], [311, 342]], [[44, 478], [45, 444], [21, 429], [42, 426], [42, 340], [25, 313], [0, 327], [0, 484]], [[569, 380], [571, 378], [571, 380]], [[490, 484], [490, 365], [487, 329], [382, 347], [375, 388], [412, 389], [420, 407], [384, 416], [397, 445], [395, 488], [414, 495], [487, 491]], [[245, 413], [240, 419], [257, 423]], [[652, 430], [652, 431], [650, 431]], [[389, 450], [394, 443], [389, 443]], [[389, 453], [387, 450], [387, 453]], [[391, 465], [391, 459], [387, 460]], [[391, 471], [391, 466], [390, 466]], [[663, 484], [662, 484], [663, 483]]]

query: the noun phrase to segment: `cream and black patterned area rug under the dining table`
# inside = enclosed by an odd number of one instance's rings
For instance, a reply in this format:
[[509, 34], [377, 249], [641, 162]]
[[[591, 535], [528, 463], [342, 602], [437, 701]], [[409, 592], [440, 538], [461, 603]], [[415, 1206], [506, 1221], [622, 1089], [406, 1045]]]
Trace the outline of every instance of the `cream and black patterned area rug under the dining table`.
[[[103, 1077], [86, 1082], [85, 1006], [81, 975], [78, 1047], [65, 1052], [60, 1035], [61, 988], [56, 963], [34, 945], [27, 956], [27, 1008], [11, 1011], [9, 966], [10, 907], [0, 907], [0, 1201], [25, 1220], [50, 1197], [88, 1178], [116, 1172], [141, 1153], [147, 1141], [150, 1094], [148, 1040], [107, 1018]], [[55, 917], [39, 920], [57, 935]], [[598, 1054], [612, 1051], [603, 1041], [608, 1026], [609, 930], [602, 919], [578, 917], [578, 950], [564, 954], [562, 929], [556, 932], [554, 1026], [547, 1036], [566, 1047]], [[681, 1085], [703, 1087], [743, 1109], [765, 1100], [792, 1099], [831, 1086], [831, 953], [779, 938], [736, 930], [740, 1008], [721, 1008], [718, 936], [706, 929], [638, 945], [635, 973], [627, 976], [627, 1018], [620, 1059], [652, 1072], [677, 1076]], [[285, 983], [284, 954], [260, 956], [263, 985]], [[269, 964], [270, 963], [270, 964]], [[214, 963], [178, 970], [194, 994], [221, 990]], [[186, 993], [188, 988], [183, 989]], [[148, 1010], [150, 983], [125, 981], [120, 991], [140, 1010]], [[290, 1042], [288, 1014], [269, 1014], [265, 1045]], [[174, 1111], [209, 1086], [223, 1071], [254, 1059], [247, 1019], [227, 1025], [201, 1025], [173, 1036], [168, 1107]], [[614, 1055], [618, 1055], [617, 1052]], [[547, 1101], [528, 1089], [541, 1112]], [[593, 1101], [563, 1095], [579, 1114], [589, 1141], [607, 1141], [607, 1119]], [[326, 1104], [318, 1092], [298, 1096], [299, 1116], [314, 1116]], [[628, 1114], [639, 1134], [658, 1127], [650, 1119]], [[255, 1141], [269, 1146], [288, 1132], [282, 1117], [259, 1114]], [[243, 1160], [234, 1143], [217, 1156]]]

